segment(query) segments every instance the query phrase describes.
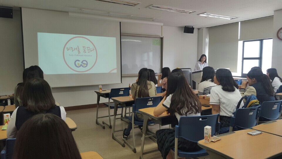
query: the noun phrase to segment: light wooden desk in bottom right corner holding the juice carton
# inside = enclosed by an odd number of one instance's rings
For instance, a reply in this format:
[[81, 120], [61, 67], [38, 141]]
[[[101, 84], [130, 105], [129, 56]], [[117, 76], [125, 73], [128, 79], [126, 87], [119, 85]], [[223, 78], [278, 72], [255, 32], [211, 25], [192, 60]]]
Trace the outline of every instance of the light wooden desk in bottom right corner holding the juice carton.
[[[273, 158], [282, 155], [282, 138], [263, 132], [248, 135], [253, 129], [239, 130], [218, 135], [221, 140], [205, 143], [198, 141], [201, 148], [207, 150], [210, 159], [217, 158]], [[204, 135], [204, 134], [202, 134]]]

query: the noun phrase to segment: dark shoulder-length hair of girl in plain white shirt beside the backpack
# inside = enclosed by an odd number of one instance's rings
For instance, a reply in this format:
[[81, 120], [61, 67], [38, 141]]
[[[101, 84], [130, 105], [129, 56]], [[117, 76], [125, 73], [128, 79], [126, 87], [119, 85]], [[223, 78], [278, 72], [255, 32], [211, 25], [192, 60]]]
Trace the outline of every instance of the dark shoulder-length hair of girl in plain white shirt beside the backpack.
[[218, 69], [215, 72], [216, 80], [222, 86], [222, 90], [227, 92], [234, 92], [238, 89], [238, 84], [232, 77], [232, 73], [228, 69]]

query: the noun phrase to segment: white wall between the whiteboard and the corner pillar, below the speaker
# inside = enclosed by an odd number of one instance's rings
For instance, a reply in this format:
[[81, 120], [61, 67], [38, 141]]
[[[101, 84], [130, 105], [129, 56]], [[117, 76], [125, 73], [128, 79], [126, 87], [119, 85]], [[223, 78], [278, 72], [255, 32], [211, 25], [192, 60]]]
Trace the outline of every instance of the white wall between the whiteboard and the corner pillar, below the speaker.
[[183, 33], [184, 27], [162, 27], [164, 37], [164, 67], [192, 68], [197, 62], [198, 29], [194, 34]]

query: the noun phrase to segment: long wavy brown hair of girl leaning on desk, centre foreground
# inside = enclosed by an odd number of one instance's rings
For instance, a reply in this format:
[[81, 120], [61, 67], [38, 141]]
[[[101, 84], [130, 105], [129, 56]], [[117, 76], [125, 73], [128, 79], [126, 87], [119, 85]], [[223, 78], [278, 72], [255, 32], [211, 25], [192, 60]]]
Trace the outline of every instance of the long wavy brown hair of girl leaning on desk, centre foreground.
[[174, 72], [167, 79], [166, 97], [172, 94], [168, 113], [174, 115], [196, 114], [202, 111], [202, 105], [183, 73]]

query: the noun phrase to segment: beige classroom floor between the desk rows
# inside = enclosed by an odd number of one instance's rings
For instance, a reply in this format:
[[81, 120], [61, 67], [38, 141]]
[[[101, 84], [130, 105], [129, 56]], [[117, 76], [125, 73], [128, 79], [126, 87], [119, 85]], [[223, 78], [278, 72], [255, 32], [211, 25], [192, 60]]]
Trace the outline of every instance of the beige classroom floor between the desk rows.
[[[118, 110], [120, 112], [121, 109]], [[107, 108], [99, 109], [99, 116], [107, 115]], [[113, 114], [113, 110], [111, 110]], [[78, 149], [80, 152], [86, 151], [96, 151], [105, 159], [112, 158], [135, 158], [138, 159], [140, 156], [141, 148], [141, 137], [142, 133], [138, 128], [135, 128], [135, 144], [136, 153], [125, 144], [123, 148], [117, 141], [112, 139], [112, 129], [105, 126], [103, 129], [100, 125], [95, 123], [96, 119], [96, 108], [82, 109], [82, 110], [71, 110], [67, 111], [67, 117], [70, 117], [77, 125], [77, 129], [73, 131], [73, 137], [76, 141]], [[99, 121], [102, 123], [103, 120], [107, 121], [108, 118], [101, 118]], [[113, 124], [113, 117], [112, 124]], [[108, 121], [107, 121], [108, 122]], [[123, 129], [127, 127], [127, 123], [118, 119], [116, 121], [116, 130]], [[168, 128], [168, 126], [163, 126], [162, 128]], [[153, 132], [159, 130], [159, 125], [149, 126], [149, 129]], [[117, 138], [122, 139], [122, 132], [116, 132]], [[132, 135], [130, 134], [127, 141], [133, 144]], [[145, 140], [144, 151], [157, 149], [157, 143], [149, 138]], [[160, 152], [150, 153], [144, 155], [145, 159], [161, 159], [162, 156]], [[202, 159], [209, 159], [209, 156], [204, 156]]]

